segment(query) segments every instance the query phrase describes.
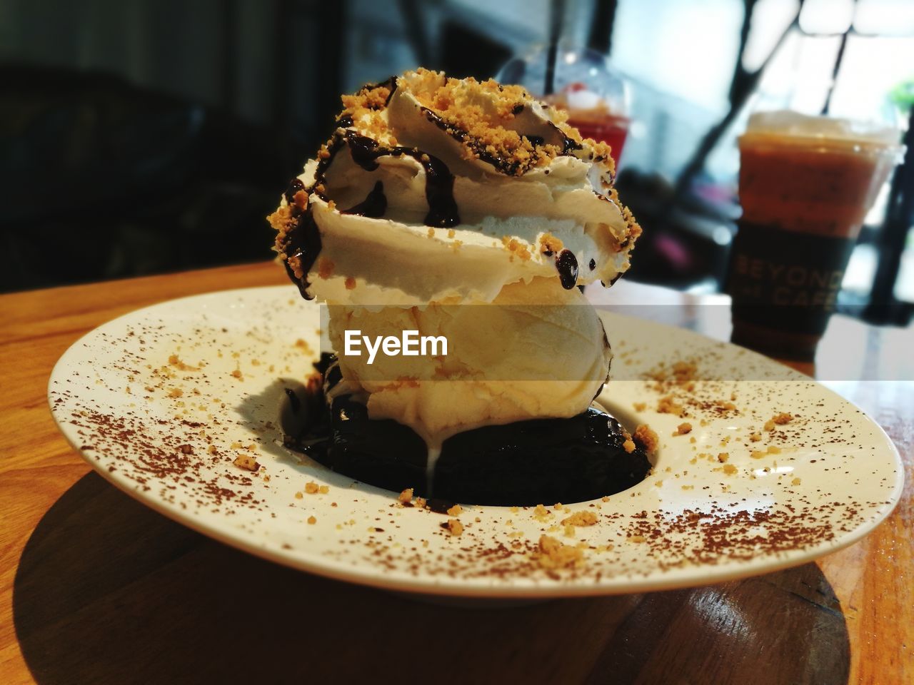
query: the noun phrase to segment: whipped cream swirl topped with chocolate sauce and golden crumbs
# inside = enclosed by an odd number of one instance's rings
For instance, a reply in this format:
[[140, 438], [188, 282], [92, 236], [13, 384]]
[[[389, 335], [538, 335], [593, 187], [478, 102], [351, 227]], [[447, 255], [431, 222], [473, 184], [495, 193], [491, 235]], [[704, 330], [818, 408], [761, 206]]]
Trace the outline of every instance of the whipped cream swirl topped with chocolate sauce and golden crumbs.
[[491, 302], [511, 283], [611, 284], [641, 233], [604, 143], [517, 86], [419, 69], [344, 97], [271, 216], [305, 297]]

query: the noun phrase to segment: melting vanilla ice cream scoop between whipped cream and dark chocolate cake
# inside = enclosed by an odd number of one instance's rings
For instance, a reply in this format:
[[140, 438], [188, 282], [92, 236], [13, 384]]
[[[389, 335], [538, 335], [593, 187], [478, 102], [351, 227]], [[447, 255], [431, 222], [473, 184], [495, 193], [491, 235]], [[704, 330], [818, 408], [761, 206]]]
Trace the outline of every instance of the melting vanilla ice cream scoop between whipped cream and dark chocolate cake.
[[[600, 392], [611, 362], [602, 322], [577, 289], [556, 279], [515, 283], [489, 302], [330, 310], [330, 339], [345, 331], [372, 340], [444, 336], [447, 355], [341, 354], [354, 390], [367, 393], [369, 415], [413, 427], [430, 444], [469, 428], [529, 418], [575, 416]], [[441, 348], [439, 348], [441, 349]]]

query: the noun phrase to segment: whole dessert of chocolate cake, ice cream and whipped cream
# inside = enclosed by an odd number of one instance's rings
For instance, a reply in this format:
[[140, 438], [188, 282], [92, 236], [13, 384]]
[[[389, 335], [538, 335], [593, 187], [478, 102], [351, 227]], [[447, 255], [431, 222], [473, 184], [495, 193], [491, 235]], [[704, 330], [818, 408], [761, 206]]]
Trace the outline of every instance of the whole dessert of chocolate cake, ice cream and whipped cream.
[[[335, 350], [292, 403], [307, 420], [291, 443], [465, 502], [581, 501], [643, 479], [644, 448], [594, 404], [611, 348], [581, 292], [618, 279], [641, 233], [609, 147], [518, 86], [426, 69], [343, 105], [270, 216]], [[431, 349], [367, 353], [408, 331]]]

